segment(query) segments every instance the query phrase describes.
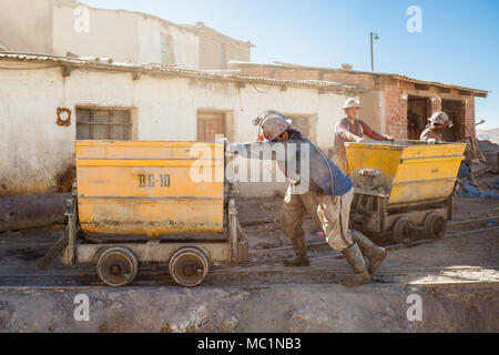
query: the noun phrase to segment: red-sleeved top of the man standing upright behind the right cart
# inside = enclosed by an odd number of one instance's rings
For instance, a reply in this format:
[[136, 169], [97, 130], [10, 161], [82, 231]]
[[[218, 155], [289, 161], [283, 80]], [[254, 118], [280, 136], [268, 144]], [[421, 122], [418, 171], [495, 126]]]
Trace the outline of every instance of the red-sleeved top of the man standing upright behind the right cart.
[[356, 119], [352, 124], [347, 118], [343, 118], [335, 126], [335, 153], [346, 155], [345, 142], [356, 142], [357, 138], [368, 138], [376, 141], [387, 141], [387, 136], [374, 131], [363, 120]]

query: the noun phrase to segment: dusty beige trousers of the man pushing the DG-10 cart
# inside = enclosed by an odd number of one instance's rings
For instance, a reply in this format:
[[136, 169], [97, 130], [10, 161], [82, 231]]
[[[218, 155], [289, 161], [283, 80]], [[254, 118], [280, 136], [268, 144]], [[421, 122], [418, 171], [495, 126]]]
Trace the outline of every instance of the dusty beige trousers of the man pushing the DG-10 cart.
[[329, 196], [313, 191], [293, 194], [292, 189], [288, 187], [281, 215], [283, 231], [291, 239], [302, 239], [304, 236], [303, 216], [305, 212], [308, 212], [322, 224], [329, 246], [342, 253], [354, 244], [348, 231], [353, 200], [354, 189], [342, 196]]

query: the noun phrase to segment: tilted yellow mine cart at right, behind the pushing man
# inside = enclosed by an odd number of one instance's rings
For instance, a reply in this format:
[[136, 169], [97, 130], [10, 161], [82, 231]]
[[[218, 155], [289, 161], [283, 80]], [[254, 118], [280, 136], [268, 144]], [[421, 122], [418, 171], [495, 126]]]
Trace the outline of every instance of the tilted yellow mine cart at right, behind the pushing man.
[[411, 241], [417, 225], [441, 237], [465, 149], [419, 141], [346, 143], [355, 185], [352, 226], [367, 234], [393, 231], [397, 243]]

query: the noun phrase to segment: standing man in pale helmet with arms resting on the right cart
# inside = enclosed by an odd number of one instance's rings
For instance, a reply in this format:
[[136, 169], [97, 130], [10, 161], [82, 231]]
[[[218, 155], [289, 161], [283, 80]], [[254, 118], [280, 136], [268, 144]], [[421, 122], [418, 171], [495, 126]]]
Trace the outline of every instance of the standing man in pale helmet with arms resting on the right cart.
[[364, 135], [376, 141], [394, 141], [393, 136], [375, 132], [366, 122], [358, 119], [357, 113], [359, 109], [360, 102], [357, 99], [347, 99], [343, 105], [346, 116], [335, 128], [333, 161], [345, 174], [348, 174], [345, 142], [364, 142]]

